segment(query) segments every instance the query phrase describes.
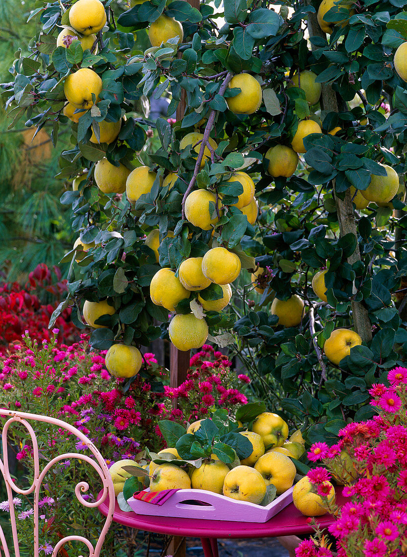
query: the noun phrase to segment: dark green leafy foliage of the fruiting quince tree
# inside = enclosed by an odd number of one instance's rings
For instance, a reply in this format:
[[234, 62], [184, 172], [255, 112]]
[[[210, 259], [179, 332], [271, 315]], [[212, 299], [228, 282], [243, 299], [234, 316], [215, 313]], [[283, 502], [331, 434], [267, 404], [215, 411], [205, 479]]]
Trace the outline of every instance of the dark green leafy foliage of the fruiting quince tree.
[[[116, 312], [103, 317], [105, 328], [92, 333], [94, 348], [108, 349], [114, 341], [149, 345], [159, 336], [166, 338], [168, 312], [151, 302], [151, 278], [160, 266], [176, 271], [185, 258], [203, 256], [212, 241], [212, 246], [236, 252], [243, 268], [254, 271], [258, 264], [272, 271], [250, 310], [246, 302], [252, 285], [243, 273], [234, 306], [206, 316], [214, 337], [225, 329], [233, 333], [227, 339], [251, 360], [257, 392], [263, 392], [269, 407], [281, 405], [299, 424], [311, 425], [310, 441], [334, 442], [347, 420], [371, 417], [368, 390], [403, 362], [407, 348], [400, 287], [407, 274], [407, 89], [393, 65], [395, 49], [407, 39], [404, 3], [355, 3], [354, 13], [347, 11], [349, 21], [336, 26], [339, 16], [333, 9], [326, 14], [333, 26], [327, 35], [317, 24], [317, 2], [287, 4], [278, 14], [258, 0], [224, 0], [223, 13], [219, 2], [202, 2], [197, 10], [178, 0], [168, 5], [151, 0], [124, 10], [107, 1], [108, 24], [99, 33], [95, 53], [82, 50], [79, 41], [56, 47], [58, 25], [67, 25], [70, 4], [37, 1], [30, 18], [38, 18], [40, 33], [30, 52], [14, 62], [12, 81], [3, 84], [14, 120], [24, 115], [27, 125], [38, 129], [51, 124], [56, 144], [58, 130], [71, 125], [62, 114], [65, 77], [79, 67], [92, 67], [102, 80], [99, 100], [72, 124], [72, 146], [60, 159], [63, 178], [86, 169], [79, 190], [67, 191], [61, 202], [71, 207], [72, 227], [81, 241], [95, 242], [95, 247], [79, 262], [75, 253], [68, 253], [68, 297], [58, 311], [68, 305], [80, 308], [83, 300], [111, 300]], [[341, 9], [340, 21], [346, 12]], [[182, 22], [182, 45], [169, 40], [139, 51], [134, 32], [143, 36], [163, 12]], [[219, 28], [221, 13], [225, 24]], [[294, 74], [304, 69], [315, 72], [322, 84], [321, 100], [311, 107], [304, 91], [292, 86]], [[263, 89], [263, 102], [250, 116], [228, 109], [227, 101], [239, 92], [228, 88], [228, 82], [241, 72], [256, 75]], [[149, 98], [164, 92], [171, 97], [168, 118], [183, 95], [187, 108], [175, 124], [165, 118], [156, 121], [160, 145], [147, 153], [146, 136], [153, 125]], [[134, 114], [136, 102], [145, 109], [143, 117]], [[101, 121], [124, 115], [115, 141], [90, 143], [92, 126], [97, 135]], [[320, 121], [322, 133], [305, 139], [306, 153], [296, 174], [273, 179], [267, 172], [267, 150], [290, 145], [298, 123], [308, 118]], [[180, 148], [180, 140], [195, 130], [210, 134], [218, 144], [202, 168], [190, 148]], [[125, 195], [101, 193], [93, 169], [103, 157], [129, 168], [149, 165], [157, 172], [150, 192], [133, 206]], [[350, 188], [365, 190], [372, 174], [383, 176], [379, 163], [399, 174], [400, 193], [390, 205], [370, 203], [354, 211]], [[234, 207], [241, 185], [226, 182], [233, 170], [242, 168], [256, 182], [259, 214], [254, 226]], [[160, 186], [168, 172], [179, 176], [171, 189]], [[222, 197], [223, 214], [213, 240], [210, 231], [184, 218], [188, 184]], [[153, 228], [159, 228], [162, 240], [159, 262], [144, 242]], [[165, 238], [169, 231], [173, 238]], [[324, 267], [327, 302], [311, 289], [312, 276]], [[287, 299], [293, 293], [305, 301], [301, 323], [277, 326], [271, 314], [273, 296]], [[210, 286], [205, 296], [217, 299], [219, 289]], [[190, 300], [180, 302], [177, 311], [190, 312]], [[72, 319], [82, 326], [76, 309]], [[334, 365], [317, 348], [341, 326], [355, 327], [363, 344]]]

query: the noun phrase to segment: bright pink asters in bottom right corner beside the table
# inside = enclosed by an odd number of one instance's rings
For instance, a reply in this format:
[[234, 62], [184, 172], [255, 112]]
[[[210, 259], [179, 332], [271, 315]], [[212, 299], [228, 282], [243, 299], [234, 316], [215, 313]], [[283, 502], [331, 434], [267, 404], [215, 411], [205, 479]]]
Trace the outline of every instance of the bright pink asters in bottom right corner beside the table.
[[[378, 415], [350, 423], [339, 443], [314, 443], [308, 452], [345, 483], [349, 497], [341, 508], [330, 505], [336, 521], [328, 527], [339, 557], [401, 557], [407, 553], [407, 368], [388, 373], [389, 385], [374, 384], [369, 393]], [[327, 501], [324, 482], [330, 472], [308, 472], [313, 491]], [[319, 540], [319, 541], [318, 541]], [[296, 549], [297, 557], [330, 557], [320, 531]]]

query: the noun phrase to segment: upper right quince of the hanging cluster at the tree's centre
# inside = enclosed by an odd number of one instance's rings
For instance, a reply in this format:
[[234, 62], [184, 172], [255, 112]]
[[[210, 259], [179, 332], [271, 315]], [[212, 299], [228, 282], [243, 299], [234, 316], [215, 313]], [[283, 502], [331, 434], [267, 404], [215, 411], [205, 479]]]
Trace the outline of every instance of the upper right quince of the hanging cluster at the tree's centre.
[[236, 280], [242, 264], [236, 253], [224, 247], [214, 247], [205, 253], [202, 260], [202, 272], [215, 284], [229, 284]]

